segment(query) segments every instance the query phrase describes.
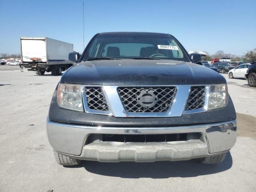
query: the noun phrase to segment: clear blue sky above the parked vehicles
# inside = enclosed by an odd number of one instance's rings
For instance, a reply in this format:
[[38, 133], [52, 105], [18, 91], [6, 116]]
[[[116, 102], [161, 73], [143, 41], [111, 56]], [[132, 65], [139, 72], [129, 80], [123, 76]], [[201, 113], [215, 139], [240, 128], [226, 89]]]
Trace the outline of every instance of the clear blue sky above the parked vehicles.
[[0, 0], [0, 53], [19, 53], [20, 36], [42, 36], [83, 51], [98, 32], [174, 35], [189, 50], [242, 55], [256, 48], [256, 0]]

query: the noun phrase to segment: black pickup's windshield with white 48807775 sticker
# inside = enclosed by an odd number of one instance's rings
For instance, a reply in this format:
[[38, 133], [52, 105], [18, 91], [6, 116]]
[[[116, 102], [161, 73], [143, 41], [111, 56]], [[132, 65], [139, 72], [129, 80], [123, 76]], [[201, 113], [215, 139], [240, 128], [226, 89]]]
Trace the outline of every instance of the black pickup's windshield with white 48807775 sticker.
[[155, 58], [190, 62], [180, 44], [168, 34], [108, 33], [98, 34], [83, 58]]

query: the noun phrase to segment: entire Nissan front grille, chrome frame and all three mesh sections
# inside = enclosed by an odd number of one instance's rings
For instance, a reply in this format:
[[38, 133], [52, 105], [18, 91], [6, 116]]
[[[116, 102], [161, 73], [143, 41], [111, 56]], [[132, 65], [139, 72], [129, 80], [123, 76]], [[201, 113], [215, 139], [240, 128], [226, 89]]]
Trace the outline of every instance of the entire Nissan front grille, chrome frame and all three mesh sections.
[[85, 112], [116, 118], [178, 117], [207, 111], [208, 85], [83, 85]]

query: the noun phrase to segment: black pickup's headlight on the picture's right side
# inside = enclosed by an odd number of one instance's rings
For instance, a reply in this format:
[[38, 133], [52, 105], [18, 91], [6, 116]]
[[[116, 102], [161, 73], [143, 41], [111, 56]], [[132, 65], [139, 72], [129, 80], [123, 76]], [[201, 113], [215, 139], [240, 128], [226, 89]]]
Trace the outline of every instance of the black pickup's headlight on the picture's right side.
[[208, 110], [224, 108], [228, 104], [227, 84], [209, 86]]

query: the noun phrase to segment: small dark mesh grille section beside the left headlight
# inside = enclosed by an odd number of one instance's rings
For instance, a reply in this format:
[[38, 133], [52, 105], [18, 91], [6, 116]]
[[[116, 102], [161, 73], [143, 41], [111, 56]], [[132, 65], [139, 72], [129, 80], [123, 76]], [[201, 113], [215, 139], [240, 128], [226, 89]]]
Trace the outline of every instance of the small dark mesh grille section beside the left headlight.
[[101, 87], [86, 87], [86, 100], [90, 110], [108, 111], [108, 105]]

